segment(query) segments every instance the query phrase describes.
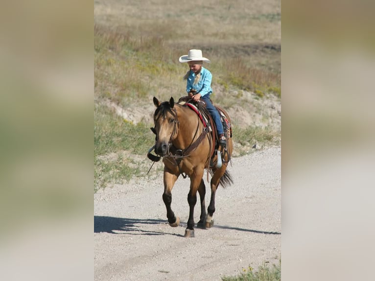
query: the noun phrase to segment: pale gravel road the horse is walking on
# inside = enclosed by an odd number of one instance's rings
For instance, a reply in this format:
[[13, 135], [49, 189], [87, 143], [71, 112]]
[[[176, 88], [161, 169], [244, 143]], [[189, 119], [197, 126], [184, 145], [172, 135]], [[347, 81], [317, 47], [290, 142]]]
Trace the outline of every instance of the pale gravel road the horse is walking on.
[[[94, 277], [105, 281], [203, 281], [233, 276], [281, 258], [281, 148], [233, 158], [234, 185], [219, 187], [215, 225], [183, 237], [189, 179], [172, 190], [179, 227], [167, 224], [163, 175], [94, 194]], [[211, 190], [204, 176], [208, 206]], [[211, 179], [211, 177], [210, 177]], [[198, 197], [199, 198], [199, 197]], [[199, 200], [198, 200], [199, 202]], [[199, 203], [195, 222], [199, 220]]]

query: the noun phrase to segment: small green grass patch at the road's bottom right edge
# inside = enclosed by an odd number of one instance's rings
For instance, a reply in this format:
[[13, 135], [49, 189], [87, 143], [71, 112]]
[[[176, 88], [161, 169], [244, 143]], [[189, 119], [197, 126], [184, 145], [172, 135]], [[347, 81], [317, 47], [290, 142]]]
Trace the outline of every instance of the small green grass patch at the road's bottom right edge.
[[222, 281], [281, 281], [281, 260], [278, 265], [270, 268], [266, 263], [254, 271], [251, 266], [243, 268], [242, 273], [236, 277], [223, 277]]

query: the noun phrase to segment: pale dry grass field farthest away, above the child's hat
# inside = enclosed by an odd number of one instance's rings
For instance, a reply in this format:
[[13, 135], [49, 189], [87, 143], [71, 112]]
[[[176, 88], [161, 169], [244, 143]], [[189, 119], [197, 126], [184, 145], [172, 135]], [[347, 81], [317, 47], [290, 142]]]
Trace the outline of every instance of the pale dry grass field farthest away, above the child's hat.
[[[94, 2], [94, 20], [134, 34], [162, 35], [168, 43], [272, 43], [281, 41], [279, 0], [168, 0]], [[197, 31], [193, 32], [194, 26]]]

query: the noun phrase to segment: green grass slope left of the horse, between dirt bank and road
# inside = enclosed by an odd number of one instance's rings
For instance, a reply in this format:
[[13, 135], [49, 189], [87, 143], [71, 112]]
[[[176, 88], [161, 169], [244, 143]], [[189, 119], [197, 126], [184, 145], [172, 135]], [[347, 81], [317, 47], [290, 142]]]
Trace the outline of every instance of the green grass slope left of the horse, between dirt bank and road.
[[[94, 108], [94, 191], [145, 176], [146, 152], [153, 145], [150, 125], [133, 124], [104, 105]], [[135, 156], [141, 157], [135, 157]], [[149, 161], [148, 161], [149, 162]]]

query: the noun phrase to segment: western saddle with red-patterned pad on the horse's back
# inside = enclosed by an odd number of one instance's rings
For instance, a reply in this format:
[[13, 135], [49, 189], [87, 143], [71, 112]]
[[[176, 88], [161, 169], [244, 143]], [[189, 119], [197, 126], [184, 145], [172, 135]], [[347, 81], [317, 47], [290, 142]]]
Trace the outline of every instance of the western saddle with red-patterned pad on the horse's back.
[[[206, 103], [203, 100], [195, 102], [192, 100], [191, 97], [183, 96], [178, 100], [178, 104], [188, 106], [191, 110], [193, 110], [198, 115], [203, 125], [208, 128], [209, 132], [211, 133], [212, 143], [214, 144], [214, 145], [211, 145], [211, 157], [213, 157], [215, 150], [218, 149], [219, 142], [216, 136], [216, 132], [217, 132], [216, 125], [206, 108]], [[228, 140], [229, 138], [232, 138], [231, 123], [228, 117], [224, 114], [223, 110], [220, 107], [215, 106], [215, 105], [214, 107], [219, 112], [220, 120], [223, 124], [224, 135], [226, 139]], [[228, 142], [227, 142], [227, 145], [228, 145]], [[224, 149], [226, 149], [226, 147], [224, 147]]]

